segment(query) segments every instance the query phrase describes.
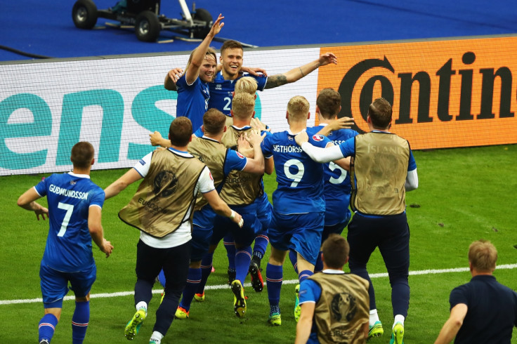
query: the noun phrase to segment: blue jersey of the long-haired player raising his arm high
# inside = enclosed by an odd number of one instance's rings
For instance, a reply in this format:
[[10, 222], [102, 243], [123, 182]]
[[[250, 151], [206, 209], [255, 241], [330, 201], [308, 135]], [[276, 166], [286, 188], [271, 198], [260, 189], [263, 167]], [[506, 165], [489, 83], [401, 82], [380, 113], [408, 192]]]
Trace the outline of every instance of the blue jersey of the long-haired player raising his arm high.
[[208, 84], [199, 77], [192, 85], [187, 84], [185, 74], [176, 81], [178, 101], [176, 117], [187, 117], [192, 121], [192, 131], [203, 125], [203, 115], [208, 110], [210, 91]]

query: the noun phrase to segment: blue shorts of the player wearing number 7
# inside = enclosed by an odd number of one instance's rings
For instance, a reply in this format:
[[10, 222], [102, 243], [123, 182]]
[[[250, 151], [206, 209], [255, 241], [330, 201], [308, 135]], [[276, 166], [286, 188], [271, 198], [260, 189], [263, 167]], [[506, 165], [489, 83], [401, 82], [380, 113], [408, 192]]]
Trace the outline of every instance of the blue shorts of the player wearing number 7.
[[63, 307], [63, 298], [68, 293], [68, 282], [70, 289], [76, 298], [82, 298], [91, 290], [97, 274], [96, 265], [91, 265], [88, 270], [79, 272], [62, 272], [54, 270], [43, 263], [39, 267], [39, 279], [41, 295], [45, 308]]

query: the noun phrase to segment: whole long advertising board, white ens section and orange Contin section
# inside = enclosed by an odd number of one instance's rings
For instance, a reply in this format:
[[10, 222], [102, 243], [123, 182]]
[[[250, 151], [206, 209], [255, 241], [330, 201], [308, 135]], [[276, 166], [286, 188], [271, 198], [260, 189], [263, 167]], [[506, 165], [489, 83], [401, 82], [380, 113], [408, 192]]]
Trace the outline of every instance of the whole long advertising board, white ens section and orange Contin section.
[[[383, 96], [393, 104], [391, 131], [415, 150], [517, 143], [516, 37], [247, 51], [244, 65], [269, 75], [318, 59], [327, 65], [294, 84], [258, 93], [256, 116], [287, 128], [293, 95], [310, 102], [315, 124], [320, 89], [341, 93], [340, 116], [368, 131], [366, 110]], [[96, 147], [96, 169], [132, 166], [152, 151], [148, 134], [166, 136], [176, 92], [162, 83], [188, 55], [0, 65], [0, 175], [70, 170], [79, 140]]]

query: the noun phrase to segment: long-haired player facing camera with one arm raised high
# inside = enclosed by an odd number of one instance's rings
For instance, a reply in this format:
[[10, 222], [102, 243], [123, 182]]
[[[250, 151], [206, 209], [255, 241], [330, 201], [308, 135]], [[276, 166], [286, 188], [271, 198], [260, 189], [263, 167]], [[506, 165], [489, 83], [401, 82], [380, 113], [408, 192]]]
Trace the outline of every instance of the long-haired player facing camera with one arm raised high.
[[214, 79], [217, 67], [216, 51], [210, 48], [210, 43], [223, 28], [224, 22], [221, 22], [223, 19], [224, 17], [220, 14], [207, 37], [190, 53], [187, 67], [181, 77], [178, 78], [174, 70], [171, 70], [165, 77], [165, 88], [170, 88], [170, 85], [174, 85], [174, 88], [177, 87], [176, 117], [188, 117], [195, 130], [203, 124], [203, 114], [209, 108], [209, 82]]

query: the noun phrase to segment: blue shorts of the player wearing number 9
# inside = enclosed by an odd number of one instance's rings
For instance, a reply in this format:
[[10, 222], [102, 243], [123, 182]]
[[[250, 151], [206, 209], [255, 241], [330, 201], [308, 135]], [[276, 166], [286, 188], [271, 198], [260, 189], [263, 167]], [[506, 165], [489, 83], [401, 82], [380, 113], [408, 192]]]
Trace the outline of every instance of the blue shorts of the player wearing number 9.
[[269, 242], [277, 250], [300, 253], [314, 265], [320, 253], [324, 223], [324, 212], [291, 215], [273, 212], [268, 230]]

